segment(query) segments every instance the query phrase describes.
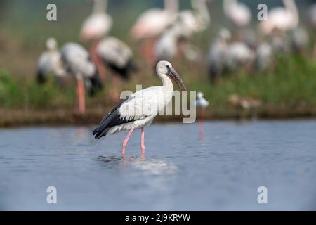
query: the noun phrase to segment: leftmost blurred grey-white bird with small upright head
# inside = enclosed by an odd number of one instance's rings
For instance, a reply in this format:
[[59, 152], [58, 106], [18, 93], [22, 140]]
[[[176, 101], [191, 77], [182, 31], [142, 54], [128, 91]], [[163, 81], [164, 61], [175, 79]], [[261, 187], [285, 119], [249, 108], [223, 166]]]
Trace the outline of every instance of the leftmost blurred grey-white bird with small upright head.
[[48, 75], [53, 74], [58, 78], [65, 77], [67, 72], [61, 63], [58, 43], [55, 38], [51, 37], [46, 41], [46, 51], [41, 53], [37, 62], [37, 82], [44, 83]]

